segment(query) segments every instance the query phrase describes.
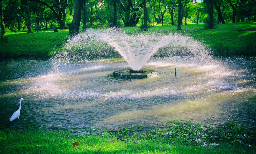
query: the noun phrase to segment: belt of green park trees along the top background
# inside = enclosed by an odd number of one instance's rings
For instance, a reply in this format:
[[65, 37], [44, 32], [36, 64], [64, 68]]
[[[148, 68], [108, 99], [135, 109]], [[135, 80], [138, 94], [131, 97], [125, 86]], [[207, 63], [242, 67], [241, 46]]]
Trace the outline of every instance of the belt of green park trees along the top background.
[[[0, 0], [1, 33], [6, 29], [67, 29], [187, 23], [255, 22], [256, 0]], [[146, 3], [146, 5], [144, 5]], [[78, 15], [80, 14], [80, 15]]]

